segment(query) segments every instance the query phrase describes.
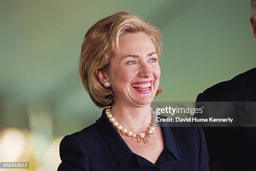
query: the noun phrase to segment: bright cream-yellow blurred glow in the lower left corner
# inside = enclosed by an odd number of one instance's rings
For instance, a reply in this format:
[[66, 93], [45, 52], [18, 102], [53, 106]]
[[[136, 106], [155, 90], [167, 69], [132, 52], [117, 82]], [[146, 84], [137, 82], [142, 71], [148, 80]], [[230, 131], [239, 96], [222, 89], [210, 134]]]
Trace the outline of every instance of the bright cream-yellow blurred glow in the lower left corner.
[[[28, 130], [7, 128], [0, 132], [0, 161], [1, 162], [29, 162], [29, 168], [8, 168], [0, 171], [56, 171], [61, 160], [59, 158], [59, 144], [63, 137], [55, 138], [50, 145], [38, 141], [36, 135]], [[37, 147], [45, 147], [39, 156]]]

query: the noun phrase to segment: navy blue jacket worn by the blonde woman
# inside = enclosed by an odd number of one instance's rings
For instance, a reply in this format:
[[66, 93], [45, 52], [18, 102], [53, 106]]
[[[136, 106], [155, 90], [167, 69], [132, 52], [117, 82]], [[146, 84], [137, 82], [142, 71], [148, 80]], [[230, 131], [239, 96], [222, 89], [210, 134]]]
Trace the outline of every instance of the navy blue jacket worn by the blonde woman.
[[164, 150], [156, 163], [131, 151], [105, 115], [60, 143], [58, 171], [209, 171], [200, 127], [161, 127]]

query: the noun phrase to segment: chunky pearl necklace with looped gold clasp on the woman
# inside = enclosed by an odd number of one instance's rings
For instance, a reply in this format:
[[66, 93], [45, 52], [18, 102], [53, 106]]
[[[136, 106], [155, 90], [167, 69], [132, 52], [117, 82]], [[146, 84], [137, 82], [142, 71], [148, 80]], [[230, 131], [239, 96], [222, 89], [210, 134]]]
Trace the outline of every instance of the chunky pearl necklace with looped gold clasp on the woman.
[[[154, 110], [152, 107], [150, 107], [150, 110], [151, 110], [151, 114], [153, 114]], [[138, 133], [138, 134], [135, 134], [133, 133], [131, 130], [127, 130], [126, 128], [123, 128], [122, 125], [118, 124], [118, 122], [115, 120], [114, 117], [112, 117], [111, 113], [110, 113], [110, 107], [108, 107], [105, 111], [110, 123], [112, 123], [112, 125], [118, 130], [120, 131], [121, 133], [123, 134], [126, 134], [128, 137], [132, 137], [132, 138], [136, 138], [137, 142], [138, 143], [148, 143], [148, 139], [147, 138], [150, 138], [150, 135], [151, 134], [154, 134], [154, 130], [155, 130], [155, 126], [153, 126], [153, 123], [151, 123], [150, 127], [147, 128], [147, 130], [143, 133]], [[154, 119], [154, 118], [153, 118]]]

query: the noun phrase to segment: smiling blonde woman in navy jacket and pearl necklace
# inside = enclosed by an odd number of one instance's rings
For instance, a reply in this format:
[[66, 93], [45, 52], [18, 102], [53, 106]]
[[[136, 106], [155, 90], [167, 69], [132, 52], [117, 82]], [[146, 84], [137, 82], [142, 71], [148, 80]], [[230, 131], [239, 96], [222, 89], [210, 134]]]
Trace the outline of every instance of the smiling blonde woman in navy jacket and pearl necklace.
[[155, 26], [126, 12], [87, 31], [79, 73], [95, 105], [106, 108], [61, 140], [58, 171], [209, 171], [202, 128], [159, 127], [152, 119], [161, 46]]

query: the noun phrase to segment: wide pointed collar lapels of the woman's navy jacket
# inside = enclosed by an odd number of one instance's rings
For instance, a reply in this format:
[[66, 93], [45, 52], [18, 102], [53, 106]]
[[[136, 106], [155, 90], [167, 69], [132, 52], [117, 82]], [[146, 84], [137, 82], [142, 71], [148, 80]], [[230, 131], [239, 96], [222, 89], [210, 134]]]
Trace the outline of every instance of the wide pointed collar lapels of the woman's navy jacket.
[[[102, 137], [105, 139], [106, 143], [110, 147], [110, 150], [113, 152], [118, 164], [120, 166], [124, 166], [133, 152], [125, 143], [118, 131], [113, 127], [112, 123], [109, 122], [105, 114], [105, 110], [106, 108], [103, 109], [101, 117], [96, 121], [97, 128], [100, 130]], [[164, 124], [160, 124], [160, 126], [164, 140], [164, 148], [169, 150], [175, 156], [175, 158], [180, 161], [171, 128]]]

